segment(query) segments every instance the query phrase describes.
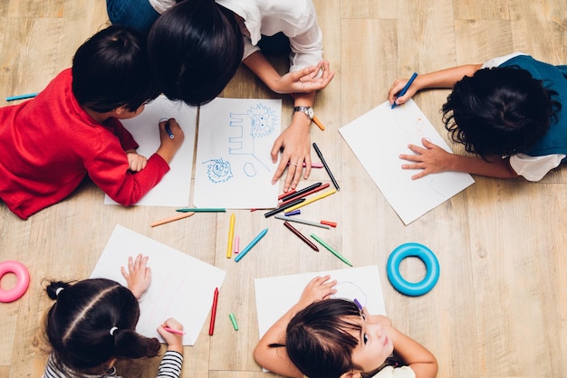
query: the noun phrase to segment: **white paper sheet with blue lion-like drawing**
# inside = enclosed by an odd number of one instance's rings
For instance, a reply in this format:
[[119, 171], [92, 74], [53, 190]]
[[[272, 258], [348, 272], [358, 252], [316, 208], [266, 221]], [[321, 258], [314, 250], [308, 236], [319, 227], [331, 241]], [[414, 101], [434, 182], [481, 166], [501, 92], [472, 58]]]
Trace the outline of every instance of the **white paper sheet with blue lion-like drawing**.
[[195, 164], [197, 207], [277, 206], [270, 150], [280, 135], [282, 100], [214, 99], [200, 109]]

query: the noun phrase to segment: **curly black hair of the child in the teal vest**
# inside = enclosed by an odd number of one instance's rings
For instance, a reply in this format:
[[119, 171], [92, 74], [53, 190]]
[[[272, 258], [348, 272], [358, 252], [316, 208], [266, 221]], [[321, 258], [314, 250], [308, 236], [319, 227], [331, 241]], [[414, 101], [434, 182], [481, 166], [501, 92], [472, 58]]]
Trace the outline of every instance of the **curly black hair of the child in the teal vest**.
[[469, 153], [525, 153], [550, 128], [561, 104], [557, 93], [517, 67], [478, 70], [456, 82], [443, 105], [443, 122], [453, 141]]

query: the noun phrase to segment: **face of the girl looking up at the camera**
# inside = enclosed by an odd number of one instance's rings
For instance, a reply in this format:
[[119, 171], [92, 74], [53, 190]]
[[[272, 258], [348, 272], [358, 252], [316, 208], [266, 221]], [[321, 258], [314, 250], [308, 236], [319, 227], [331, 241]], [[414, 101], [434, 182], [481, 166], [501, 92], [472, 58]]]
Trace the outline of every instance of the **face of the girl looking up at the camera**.
[[353, 323], [360, 324], [361, 330], [351, 331], [351, 335], [359, 340], [359, 345], [352, 351], [352, 364], [364, 373], [372, 372], [394, 351], [388, 336], [388, 320], [379, 315], [370, 315], [364, 308], [360, 318]]

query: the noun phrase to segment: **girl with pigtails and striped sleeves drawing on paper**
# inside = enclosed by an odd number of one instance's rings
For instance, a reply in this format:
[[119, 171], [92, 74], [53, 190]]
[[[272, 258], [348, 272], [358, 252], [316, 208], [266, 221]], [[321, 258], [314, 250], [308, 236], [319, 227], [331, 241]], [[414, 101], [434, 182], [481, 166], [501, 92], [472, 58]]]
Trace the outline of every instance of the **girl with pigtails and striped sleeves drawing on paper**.
[[[45, 334], [52, 348], [44, 378], [120, 377], [117, 358], [153, 357], [159, 353], [159, 340], [139, 335], [139, 297], [149, 287], [151, 271], [148, 257], [129, 259], [122, 275], [128, 288], [111, 279], [85, 279], [76, 283], [52, 281], [45, 288], [56, 302], [45, 319]], [[169, 318], [158, 327], [168, 349], [157, 376], [176, 378], [183, 364], [183, 326]]]

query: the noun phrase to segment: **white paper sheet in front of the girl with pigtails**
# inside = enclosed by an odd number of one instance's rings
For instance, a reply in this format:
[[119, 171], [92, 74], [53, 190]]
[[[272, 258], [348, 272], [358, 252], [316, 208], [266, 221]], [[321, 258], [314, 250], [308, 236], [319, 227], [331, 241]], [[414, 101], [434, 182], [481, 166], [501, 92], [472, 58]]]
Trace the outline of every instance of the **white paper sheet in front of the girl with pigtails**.
[[151, 284], [139, 300], [137, 331], [163, 343], [156, 329], [174, 317], [186, 332], [183, 345], [195, 345], [226, 271], [117, 225], [91, 278], [114, 279], [126, 286], [120, 267], [128, 269], [129, 256], [136, 258], [139, 253], [149, 256]]

